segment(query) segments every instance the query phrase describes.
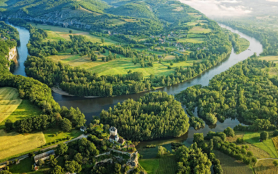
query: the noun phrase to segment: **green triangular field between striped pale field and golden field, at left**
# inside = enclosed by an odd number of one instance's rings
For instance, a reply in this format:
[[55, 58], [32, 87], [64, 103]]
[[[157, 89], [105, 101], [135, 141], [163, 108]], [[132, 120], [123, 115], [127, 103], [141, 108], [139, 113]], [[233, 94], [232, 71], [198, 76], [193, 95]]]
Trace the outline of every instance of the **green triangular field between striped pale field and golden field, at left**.
[[15, 109], [15, 111], [13, 111], [13, 113], [11, 113], [8, 118], [0, 123], [0, 129], [5, 128], [5, 122], [8, 119], [10, 119], [12, 122], [15, 122], [16, 120], [21, 120], [23, 118], [38, 116], [41, 113], [42, 110], [38, 106], [35, 106], [29, 100], [22, 100], [22, 103], [17, 106], [17, 109]]

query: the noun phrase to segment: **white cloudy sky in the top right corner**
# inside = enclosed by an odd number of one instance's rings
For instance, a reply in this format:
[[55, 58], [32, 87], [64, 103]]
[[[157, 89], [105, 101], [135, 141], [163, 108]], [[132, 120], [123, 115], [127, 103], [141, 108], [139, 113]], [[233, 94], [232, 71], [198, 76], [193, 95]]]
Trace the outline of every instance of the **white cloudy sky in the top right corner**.
[[180, 0], [211, 18], [278, 15], [278, 0]]

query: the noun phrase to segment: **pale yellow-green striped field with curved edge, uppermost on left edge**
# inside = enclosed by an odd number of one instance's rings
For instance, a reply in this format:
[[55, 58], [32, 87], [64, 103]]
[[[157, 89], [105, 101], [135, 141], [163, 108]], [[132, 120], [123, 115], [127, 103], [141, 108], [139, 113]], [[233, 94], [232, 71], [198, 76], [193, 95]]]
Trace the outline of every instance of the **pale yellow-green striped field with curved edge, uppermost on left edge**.
[[0, 88], [0, 122], [8, 118], [22, 102], [15, 88]]

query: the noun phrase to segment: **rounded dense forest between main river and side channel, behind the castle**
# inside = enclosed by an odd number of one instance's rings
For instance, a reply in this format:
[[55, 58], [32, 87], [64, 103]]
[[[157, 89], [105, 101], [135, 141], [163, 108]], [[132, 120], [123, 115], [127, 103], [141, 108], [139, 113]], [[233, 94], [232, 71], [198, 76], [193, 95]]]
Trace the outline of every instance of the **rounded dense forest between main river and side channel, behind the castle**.
[[113, 109], [101, 111], [100, 119], [117, 127], [121, 136], [132, 141], [179, 137], [189, 127], [181, 103], [165, 92], [147, 93], [138, 101], [125, 100]]

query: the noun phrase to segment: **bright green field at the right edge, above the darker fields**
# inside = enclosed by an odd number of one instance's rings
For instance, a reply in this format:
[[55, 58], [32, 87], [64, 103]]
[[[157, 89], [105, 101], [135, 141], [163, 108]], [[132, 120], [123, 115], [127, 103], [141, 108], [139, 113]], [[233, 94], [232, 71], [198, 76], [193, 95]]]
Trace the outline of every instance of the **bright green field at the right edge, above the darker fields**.
[[260, 132], [245, 132], [243, 136], [243, 140], [247, 143], [250, 143], [265, 152], [268, 152], [270, 157], [278, 158], [277, 150], [275, 149], [275, 145], [272, 142], [272, 139], [267, 139], [265, 141], [260, 142]]

